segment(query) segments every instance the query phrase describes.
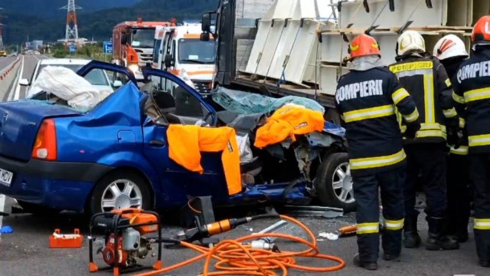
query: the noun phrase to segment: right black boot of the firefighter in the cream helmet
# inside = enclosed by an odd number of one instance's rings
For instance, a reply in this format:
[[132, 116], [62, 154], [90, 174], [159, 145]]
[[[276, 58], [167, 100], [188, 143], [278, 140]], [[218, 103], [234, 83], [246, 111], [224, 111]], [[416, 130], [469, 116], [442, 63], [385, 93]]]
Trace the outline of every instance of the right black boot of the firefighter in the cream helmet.
[[429, 233], [427, 237], [427, 250], [453, 250], [459, 249], [457, 241], [449, 239], [444, 235], [445, 219], [427, 217]]

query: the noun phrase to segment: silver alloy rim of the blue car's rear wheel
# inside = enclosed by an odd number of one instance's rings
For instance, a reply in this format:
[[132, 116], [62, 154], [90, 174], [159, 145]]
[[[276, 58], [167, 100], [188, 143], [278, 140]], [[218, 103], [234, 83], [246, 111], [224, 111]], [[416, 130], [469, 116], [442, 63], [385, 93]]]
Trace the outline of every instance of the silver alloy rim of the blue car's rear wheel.
[[103, 212], [124, 208], [141, 209], [143, 194], [134, 182], [127, 179], [119, 179], [111, 182], [105, 188], [100, 201]]

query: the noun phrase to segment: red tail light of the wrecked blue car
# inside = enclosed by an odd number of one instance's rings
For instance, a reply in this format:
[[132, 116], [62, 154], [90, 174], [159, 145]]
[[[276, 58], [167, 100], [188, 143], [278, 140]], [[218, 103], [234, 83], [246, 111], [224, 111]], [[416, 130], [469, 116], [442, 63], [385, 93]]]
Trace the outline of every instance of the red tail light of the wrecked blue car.
[[46, 119], [41, 123], [37, 133], [31, 157], [53, 161], [56, 160], [57, 155], [56, 126], [53, 119]]

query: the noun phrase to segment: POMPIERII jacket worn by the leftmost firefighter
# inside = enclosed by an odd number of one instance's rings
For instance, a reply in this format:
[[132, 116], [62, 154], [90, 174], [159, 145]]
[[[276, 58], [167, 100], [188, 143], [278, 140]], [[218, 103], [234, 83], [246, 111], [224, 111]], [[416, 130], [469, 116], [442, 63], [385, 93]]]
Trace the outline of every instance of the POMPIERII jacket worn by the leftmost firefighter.
[[346, 130], [352, 176], [405, 166], [395, 107], [411, 123], [417, 121], [418, 111], [388, 68], [351, 70], [339, 80], [335, 98]]

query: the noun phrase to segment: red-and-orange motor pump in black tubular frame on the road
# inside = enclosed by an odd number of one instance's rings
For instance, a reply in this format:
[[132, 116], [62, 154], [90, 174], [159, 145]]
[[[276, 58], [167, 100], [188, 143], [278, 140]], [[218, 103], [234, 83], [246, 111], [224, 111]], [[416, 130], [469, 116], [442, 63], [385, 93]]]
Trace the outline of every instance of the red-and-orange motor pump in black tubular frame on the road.
[[[105, 231], [104, 244], [97, 250], [97, 253], [102, 253], [102, 258], [108, 265], [102, 269], [94, 263], [93, 244], [96, 241], [93, 234], [94, 227]], [[158, 232], [156, 241], [143, 237], [154, 232]], [[152, 268], [157, 270], [162, 267], [160, 216], [155, 212], [129, 208], [95, 214], [90, 221], [88, 239], [90, 272], [112, 269], [113, 275], [118, 276], [120, 268], [124, 272], [142, 270], [145, 267], [138, 265], [136, 261], [147, 257], [152, 250], [152, 243], [156, 243], [158, 247], [157, 261]]]

